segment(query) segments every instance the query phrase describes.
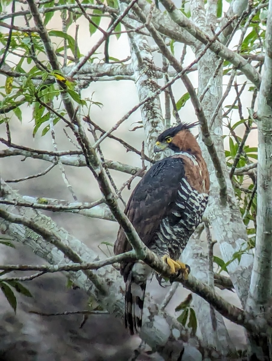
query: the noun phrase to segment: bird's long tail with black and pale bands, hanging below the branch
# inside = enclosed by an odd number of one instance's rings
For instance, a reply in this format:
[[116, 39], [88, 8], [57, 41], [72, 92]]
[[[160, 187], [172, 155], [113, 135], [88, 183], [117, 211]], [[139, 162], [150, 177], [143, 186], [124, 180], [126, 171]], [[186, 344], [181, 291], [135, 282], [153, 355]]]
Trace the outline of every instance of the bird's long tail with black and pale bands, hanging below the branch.
[[139, 332], [142, 326], [147, 270], [146, 265], [137, 262], [126, 280], [125, 326], [129, 329], [131, 335]]

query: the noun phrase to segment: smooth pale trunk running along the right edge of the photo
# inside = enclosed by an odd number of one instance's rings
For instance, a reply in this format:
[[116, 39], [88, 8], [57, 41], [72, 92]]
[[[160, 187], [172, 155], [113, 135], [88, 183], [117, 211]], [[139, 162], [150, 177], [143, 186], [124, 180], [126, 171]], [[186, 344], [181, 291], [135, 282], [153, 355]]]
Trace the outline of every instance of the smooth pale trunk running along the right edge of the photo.
[[270, 302], [272, 286], [272, 0], [269, 1], [267, 16], [264, 74], [258, 100], [257, 124], [257, 232], [247, 308], [262, 313]]

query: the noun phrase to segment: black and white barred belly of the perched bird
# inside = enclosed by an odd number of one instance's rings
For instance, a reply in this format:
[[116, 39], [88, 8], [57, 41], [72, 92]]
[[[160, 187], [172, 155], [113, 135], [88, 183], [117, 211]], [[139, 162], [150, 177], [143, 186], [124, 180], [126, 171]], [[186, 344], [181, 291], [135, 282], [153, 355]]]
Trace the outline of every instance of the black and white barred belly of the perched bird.
[[198, 193], [183, 178], [172, 212], [162, 220], [152, 250], [159, 256], [169, 254], [172, 259], [178, 260], [190, 236], [202, 221], [207, 203], [208, 194]]

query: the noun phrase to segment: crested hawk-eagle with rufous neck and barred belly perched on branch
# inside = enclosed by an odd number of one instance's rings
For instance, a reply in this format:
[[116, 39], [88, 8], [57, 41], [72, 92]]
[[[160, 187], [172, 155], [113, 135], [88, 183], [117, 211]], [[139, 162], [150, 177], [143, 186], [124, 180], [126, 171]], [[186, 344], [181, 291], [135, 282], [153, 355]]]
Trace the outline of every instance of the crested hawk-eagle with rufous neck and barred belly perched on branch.
[[[179, 124], [157, 138], [154, 152], [168, 149], [171, 156], [156, 162], [132, 192], [125, 213], [143, 243], [163, 257], [171, 271], [182, 270], [181, 252], [202, 221], [210, 188], [207, 165], [197, 140], [191, 134], [193, 124]], [[122, 228], [115, 242], [115, 254], [131, 246]], [[139, 331], [146, 281], [151, 269], [142, 261], [121, 263], [126, 283], [125, 325], [130, 333]]]

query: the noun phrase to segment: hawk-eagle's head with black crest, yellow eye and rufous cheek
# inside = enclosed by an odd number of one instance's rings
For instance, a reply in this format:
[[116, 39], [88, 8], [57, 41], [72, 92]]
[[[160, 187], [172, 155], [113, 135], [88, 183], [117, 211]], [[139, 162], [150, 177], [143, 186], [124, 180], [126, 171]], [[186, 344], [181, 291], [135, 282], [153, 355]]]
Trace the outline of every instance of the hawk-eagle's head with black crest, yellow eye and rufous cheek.
[[193, 155], [201, 153], [197, 140], [190, 132], [190, 129], [197, 124], [197, 122], [191, 124], [181, 123], [176, 127], [165, 130], [158, 136], [154, 152], [163, 152], [170, 149], [171, 153], [188, 152]]

